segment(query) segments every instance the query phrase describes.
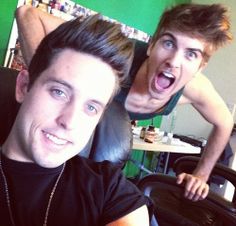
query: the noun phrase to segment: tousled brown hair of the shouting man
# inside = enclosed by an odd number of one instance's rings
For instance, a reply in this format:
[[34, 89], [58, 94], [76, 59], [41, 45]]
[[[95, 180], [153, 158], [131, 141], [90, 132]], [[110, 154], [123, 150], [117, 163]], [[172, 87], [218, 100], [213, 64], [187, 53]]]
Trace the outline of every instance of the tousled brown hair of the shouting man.
[[219, 47], [232, 40], [227, 9], [221, 4], [180, 4], [166, 10], [152, 42], [156, 42], [166, 30], [179, 31], [205, 42], [204, 60]]

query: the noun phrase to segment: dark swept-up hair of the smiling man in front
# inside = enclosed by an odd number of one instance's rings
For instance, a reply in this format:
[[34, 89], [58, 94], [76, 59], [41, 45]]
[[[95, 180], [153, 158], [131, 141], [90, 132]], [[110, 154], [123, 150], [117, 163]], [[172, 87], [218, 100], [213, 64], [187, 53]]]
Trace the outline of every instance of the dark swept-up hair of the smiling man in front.
[[60, 25], [41, 41], [29, 65], [30, 86], [62, 50], [69, 48], [98, 57], [116, 76], [116, 89], [126, 80], [133, 60], [133, 43], [121, 26], [101, 19], [99, 14], [76, 18]]

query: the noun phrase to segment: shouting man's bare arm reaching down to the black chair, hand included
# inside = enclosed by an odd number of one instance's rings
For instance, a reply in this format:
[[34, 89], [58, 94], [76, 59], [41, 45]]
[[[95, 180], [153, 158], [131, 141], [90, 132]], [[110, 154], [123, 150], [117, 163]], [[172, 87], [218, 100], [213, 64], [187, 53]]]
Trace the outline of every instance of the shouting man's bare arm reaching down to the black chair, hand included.
[[177, 179], [177, 183], [186, 181], [185, 196], [198, 200], [205, 198], [208, 194], [209, 186], [206, 182], [229, 140], [233, 119], [211, 82], [201, 74], [186, 85], [183, 100], [185, 103], [191, 103], [213, 125], [207, 145], [193, 174], [183, 173]]

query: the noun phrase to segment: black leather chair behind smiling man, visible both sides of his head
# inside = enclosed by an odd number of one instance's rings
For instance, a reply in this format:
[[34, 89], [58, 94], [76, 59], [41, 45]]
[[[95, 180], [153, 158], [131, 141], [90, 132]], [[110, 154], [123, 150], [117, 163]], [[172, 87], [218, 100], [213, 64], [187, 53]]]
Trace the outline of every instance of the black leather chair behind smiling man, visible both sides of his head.
[[[20, 107], [15, 100], [18, 73], [16, 70], [0, 67], [0, 145], [7, 138]], [[95, 161], [109, 160], [122, 167], [129, 158], [131, 142], [128, 113], [120, 103], [113, 101], [79, 155]]]

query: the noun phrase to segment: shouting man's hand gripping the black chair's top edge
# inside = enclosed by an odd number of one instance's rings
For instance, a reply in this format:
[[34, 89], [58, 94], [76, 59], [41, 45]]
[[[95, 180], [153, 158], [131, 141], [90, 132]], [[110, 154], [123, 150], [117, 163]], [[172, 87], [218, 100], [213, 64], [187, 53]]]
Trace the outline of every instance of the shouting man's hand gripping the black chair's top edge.
[[203, 200], [209, 192], [209, 185], [200, 177], [193, 174], [181, 173], [177, 176], [177, 184], [185, 181], [184, 196], [192, 201]]

